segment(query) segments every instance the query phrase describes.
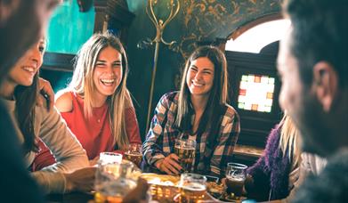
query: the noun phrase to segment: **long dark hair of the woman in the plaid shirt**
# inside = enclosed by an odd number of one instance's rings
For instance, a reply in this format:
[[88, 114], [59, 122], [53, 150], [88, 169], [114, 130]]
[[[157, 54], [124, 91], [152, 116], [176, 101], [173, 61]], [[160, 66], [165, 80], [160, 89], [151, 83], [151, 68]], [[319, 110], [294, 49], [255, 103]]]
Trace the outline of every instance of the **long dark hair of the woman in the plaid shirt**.
[[[190, 105], [190, 90], [186, 84], [186, 77], [190, 69], [191, 61], [195, 61], [200, 57], [206, 57], [214, 64], [214, 82], [206, 104], [206, 110], [198, 125], [198, 132], [190, 132], [192, 130], [190, 119], [193, 110]], [[179, 93], [178, 113], [176, 114], [175, 125], [183, 132], [190, 134], [202, 134], [209, 128], [209, 134], [216, 133], [219, 126], [216, 124], [221, 116], [220, 112], [223, 110], [223, 106], [228, 99], [227, 81], [227, 62], [223, 52], [214, 46], [206, 45], [198, 47], [198, 49], [190, 55], [188, 61], [186, 61], [185, 69], [182, 72], [182, 85]], [[213, 129], [211, 124], [214, 124], [212, 126], [216, 127]]]

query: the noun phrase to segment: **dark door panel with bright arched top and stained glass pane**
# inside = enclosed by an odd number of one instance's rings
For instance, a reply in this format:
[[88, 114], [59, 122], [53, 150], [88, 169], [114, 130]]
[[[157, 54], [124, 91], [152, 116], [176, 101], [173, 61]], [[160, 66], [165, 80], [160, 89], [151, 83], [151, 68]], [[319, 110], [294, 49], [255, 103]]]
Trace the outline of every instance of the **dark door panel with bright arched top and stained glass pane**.
[[239, 144], [264, 147], [270, 129], [279, 123], [276, 58], [279, 39], [289, 25], [280, 14], [253, 20], [231, 33], [225, 45], [231, 105], [243, 123]]

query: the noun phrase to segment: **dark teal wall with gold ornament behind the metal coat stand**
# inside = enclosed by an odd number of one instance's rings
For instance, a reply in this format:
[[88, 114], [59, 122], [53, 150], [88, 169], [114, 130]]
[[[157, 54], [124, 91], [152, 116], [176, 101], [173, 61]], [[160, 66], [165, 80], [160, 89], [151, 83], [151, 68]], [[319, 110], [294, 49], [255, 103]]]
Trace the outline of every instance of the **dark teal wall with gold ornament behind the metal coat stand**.
[[[167, 13], [166, 3], [169, 1], [158, 2], [161, 4], [155, 12], [164, 17]], [[180, 12], [164, 31], [164, 39], [167, 42], [177, 41], [180, 52], [174, 53], [165, 45], [160, 45], [152, 109], [161, 95], [177, 89], [183, 63], [196, 48], [195, 42], [214, 40], [216, 37], [226, 38], [247, 22], [281, 10], [280, 0], [180, 0], [180, 3]], [[128, 88], [139, 104], [135, 104], [136, 113], [141, 134], [145, 136], [154, 45], [140, 50], [137, 43], [146, 37], [155, 37], [156, 33], [145, 12], [147, 1], [127, 0], [127, 4], [136, 16], [127, 37], [126, 50], [130, 64]]]

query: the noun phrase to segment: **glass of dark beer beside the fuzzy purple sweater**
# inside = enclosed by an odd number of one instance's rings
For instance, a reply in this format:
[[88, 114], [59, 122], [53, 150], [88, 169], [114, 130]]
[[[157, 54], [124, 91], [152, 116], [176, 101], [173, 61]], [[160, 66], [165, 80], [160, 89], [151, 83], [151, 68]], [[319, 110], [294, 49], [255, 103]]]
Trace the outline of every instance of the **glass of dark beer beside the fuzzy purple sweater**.
[[244, 182], [247, 177], [247, 166], [239, 163], [228, 163], [226, 167], [226, 186], [231, 198], [239, 200], [242, 196]]

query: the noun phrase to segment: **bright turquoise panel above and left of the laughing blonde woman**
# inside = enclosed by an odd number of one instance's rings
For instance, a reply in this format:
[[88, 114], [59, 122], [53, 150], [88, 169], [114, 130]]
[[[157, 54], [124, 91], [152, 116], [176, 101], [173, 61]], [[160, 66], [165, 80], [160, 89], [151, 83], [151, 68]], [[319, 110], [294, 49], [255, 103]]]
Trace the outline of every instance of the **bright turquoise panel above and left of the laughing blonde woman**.
[[48, 27], [47, 52], [77, 53], [92, 36], [94, 9], [79, 12], [77, 1], [64, 1], [53, 13]]

